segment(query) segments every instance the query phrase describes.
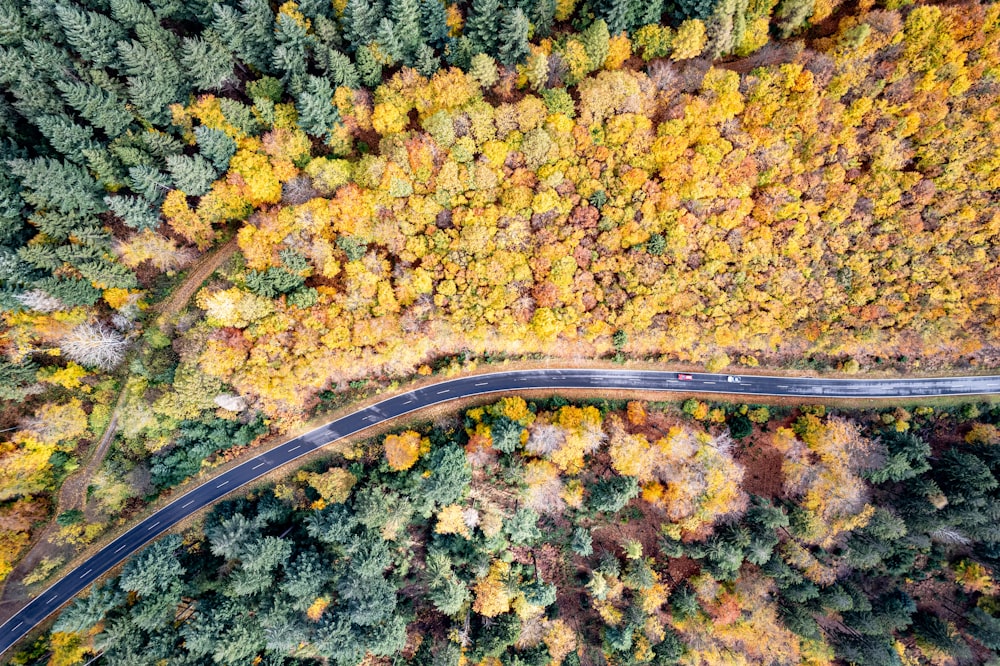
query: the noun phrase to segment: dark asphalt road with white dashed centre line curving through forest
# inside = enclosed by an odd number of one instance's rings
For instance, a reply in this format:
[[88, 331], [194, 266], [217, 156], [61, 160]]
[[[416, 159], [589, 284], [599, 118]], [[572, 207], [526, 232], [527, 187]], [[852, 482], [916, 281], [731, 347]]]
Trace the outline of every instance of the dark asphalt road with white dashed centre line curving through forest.
[[495, 372], [439, 382], [360, 409], [203, 483], [125, 532], [0, 625], [0, 654], [109, 569], [195, 511], [329, 442], [353, 435], [381, 421], [448, 400], [533, 389], [682, 391], [803, 398], [919, 398], [1000, 394], [1000, 376], [813, 379], [742, 375], [738, 383], [727, 381], [727, 375], [707, 373], [691, 373], [690, 380], [679, 380], [677, 377], [676, 372], [651, 370], [545, 369]]

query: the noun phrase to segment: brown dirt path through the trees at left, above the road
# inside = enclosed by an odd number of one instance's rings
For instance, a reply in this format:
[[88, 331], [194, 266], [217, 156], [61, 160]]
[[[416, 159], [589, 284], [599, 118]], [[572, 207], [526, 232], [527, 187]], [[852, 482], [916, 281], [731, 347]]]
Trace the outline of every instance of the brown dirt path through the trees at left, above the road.
[[[191, 268], [184, 282], [166, 300], [154, 306], [154, 312], [159, 315], [158, 321], [169, 321], [171, 317], [180, 312], [201, 287], [202, 283], [219, 266], [228, 260], [237, 249], [238, 246], [234, 237], [215, 252], [202, 257]], [[83, 466], [63, 481], [56, 498], [56, 508], [53, 516], [58, 516], [63, 511], [70, 509], [86, 509], [87, 488], [90, 486], [94, 475], [101, 469], [101, 465], [104, 463], [104, 456], [107, 455], [108, 449], [111, 448], [111, 442], [114, 440], [115, 431], [118, 427], [118, 412], [125, 402], [124, 382], [122, 386], [123, 390], [118, 394], [118, 400], [111, 411], [111, 420], [108, 421], [108, 426], [104, 429], [101, 441], [88, 453]], [[86, 519], [92, 520], [93, 516], [88, 513]], [[2, 585], [0, 587], [0, 616], [6, 616], [8, 613], [7, 609], [16, 609], [28, 597], [28, 590], [21, 581], [43, 559], [59, 557], [64, 558], [66, 561], [73, 559], [76, 553], [71, 546], [54, 543], [55, 536], [58, 533], [59, 525], [53, 519], [38, 534], [31, 549], [21, 557], [4, 582], [0, 584]]]

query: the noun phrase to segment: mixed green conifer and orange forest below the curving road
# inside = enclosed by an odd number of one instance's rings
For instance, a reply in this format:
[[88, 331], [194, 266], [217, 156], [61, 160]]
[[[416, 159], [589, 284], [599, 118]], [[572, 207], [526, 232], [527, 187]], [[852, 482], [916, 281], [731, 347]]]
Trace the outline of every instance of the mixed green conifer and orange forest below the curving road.
[[12, 663], [1000, 663], [998, 424], [506, 397], [219, 504]]

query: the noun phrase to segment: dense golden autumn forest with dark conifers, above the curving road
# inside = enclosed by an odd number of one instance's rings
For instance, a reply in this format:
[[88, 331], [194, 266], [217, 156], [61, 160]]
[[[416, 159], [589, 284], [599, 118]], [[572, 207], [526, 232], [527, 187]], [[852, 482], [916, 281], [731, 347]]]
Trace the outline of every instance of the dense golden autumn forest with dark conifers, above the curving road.
[[996, 368], [998, 78], [968, 1], [0, 0], [0, 581], [477, 363]]

